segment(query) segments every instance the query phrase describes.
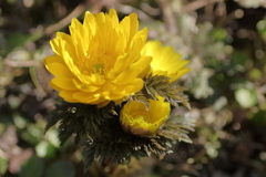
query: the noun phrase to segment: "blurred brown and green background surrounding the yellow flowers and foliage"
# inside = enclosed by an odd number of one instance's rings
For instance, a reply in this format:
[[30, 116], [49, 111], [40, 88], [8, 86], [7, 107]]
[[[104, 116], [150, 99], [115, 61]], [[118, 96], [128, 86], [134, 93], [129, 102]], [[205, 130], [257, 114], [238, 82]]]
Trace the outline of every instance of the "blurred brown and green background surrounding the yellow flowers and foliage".
[[[60, 147], [55, 127], [43, 136], [58, 95], [42, 61], [72, 18], [110, 8], [121, 19], [137, 13], [149, 39], [191, 61], [181, 84], [192, 110], [174, 112], [196, 127], [193, 144], [175, 144], [162, 160], [84, 174], [72, 139]], [[0, 176], [266, 177], [265, 52], [265, 0], [0, 0]]]

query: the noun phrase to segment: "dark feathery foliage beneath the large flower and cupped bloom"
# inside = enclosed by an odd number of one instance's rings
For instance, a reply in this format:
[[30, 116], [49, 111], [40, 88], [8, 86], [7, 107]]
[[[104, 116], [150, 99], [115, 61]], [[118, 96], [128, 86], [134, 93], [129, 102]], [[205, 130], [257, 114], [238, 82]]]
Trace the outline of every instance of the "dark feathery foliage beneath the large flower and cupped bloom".
[[[61, 145], [72, 135], [76, 139], [85, 139], [84, 170], [94, 160], [103, 166], [112, 166], [130, 162], [131, 157], [149, 157], [151, 154], [164, 156], [172, 153], [171, 144], [176, 140], [191, 143], [186, 135], [193, 131], [193, 122], [188, 118], [172, 117], [153, 137], [140, 137], [125, 133], [119, 118], [122, 105], [111, 102], [103, 108], [94, 105], [68, 103], [62, 100], [51, 112], [45, 132], [58, 122]], [[78, 142], [79, 143], [79, 142]]]

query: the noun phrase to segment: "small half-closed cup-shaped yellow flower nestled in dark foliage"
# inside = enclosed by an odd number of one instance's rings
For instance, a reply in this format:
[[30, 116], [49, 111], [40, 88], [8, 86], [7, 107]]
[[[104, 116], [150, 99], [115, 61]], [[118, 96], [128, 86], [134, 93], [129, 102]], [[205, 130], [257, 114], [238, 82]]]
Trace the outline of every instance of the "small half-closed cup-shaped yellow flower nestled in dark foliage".
[[126, 133], [137, 136], [153, 136], [170, 114], [170, 103], [158, 96], [150, 100], [149, 110], [140, 102], [127, 102], [121, 111], [120, 122]]

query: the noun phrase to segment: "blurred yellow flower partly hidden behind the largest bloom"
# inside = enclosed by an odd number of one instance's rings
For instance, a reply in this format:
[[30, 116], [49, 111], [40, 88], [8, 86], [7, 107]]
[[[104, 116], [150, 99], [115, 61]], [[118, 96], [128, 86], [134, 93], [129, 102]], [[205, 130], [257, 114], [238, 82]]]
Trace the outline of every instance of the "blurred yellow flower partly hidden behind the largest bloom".
[[178, 80], [191, 69], [185, 67], [190, 62], [182, 60], [182, 55], [172, 46], [162, 46], [158, 41], [149, 41], [142, 50], [142, 55], [153, 56], [151, 63], [152, 75], [165, 75], [171, 77], [170, 82]]

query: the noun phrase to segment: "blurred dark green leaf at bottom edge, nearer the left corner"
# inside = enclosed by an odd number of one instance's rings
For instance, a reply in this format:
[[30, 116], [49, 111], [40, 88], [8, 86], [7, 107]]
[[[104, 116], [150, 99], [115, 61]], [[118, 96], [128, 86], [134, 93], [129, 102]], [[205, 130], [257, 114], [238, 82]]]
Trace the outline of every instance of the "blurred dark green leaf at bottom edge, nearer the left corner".
[[20, 177], [41, 177], [44, 169], [44, 160], [32, 156], [22, 166]]

